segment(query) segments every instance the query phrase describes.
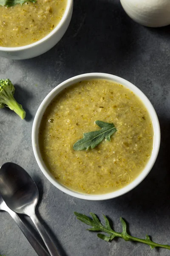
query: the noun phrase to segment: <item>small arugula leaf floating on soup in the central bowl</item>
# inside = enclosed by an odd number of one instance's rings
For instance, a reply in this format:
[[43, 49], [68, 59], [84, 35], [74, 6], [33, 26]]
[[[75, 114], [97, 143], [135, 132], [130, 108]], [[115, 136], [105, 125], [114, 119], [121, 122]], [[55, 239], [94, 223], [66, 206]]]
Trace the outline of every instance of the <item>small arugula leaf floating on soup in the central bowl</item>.
[[113, 123], [107, 123], [102, 121], [95, 121], [101, 130], [91, 131], [83, 134], [83, 138], [78, 140], [73, 145], [74, 150], [83, 150], [88, 148], [95, 148], [102, 140], [111, 140], [111, 135], [117, 131]]

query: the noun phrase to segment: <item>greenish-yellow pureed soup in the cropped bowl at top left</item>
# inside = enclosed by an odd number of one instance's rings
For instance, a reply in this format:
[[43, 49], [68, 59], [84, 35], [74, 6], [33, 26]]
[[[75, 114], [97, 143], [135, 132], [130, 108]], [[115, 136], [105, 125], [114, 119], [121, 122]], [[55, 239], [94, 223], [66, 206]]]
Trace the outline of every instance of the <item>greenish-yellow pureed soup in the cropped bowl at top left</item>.
[[61, 20], [67, 0], [37, 0], [0, 6], [0, 46], [20, 47], [48, 35]]

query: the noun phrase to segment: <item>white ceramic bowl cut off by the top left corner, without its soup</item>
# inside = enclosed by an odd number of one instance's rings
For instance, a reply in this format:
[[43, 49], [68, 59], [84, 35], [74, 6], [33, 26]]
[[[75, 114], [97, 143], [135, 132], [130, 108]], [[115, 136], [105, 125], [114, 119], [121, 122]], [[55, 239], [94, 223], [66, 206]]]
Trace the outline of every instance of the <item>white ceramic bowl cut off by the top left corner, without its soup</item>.
[[65, 34], [70, 23], [72, 13], [73, 0], [68, 0], [66, 10], [61, 21], [51, 31], [51, 33], [34, 44], [28, 44], [21, 47], [0, 47], [0, 56], [14, 60], [22, 60], [34, 58], [44, 52], [47, 52], [49, 49], [54, 47], [54, 45], [57, 44]]

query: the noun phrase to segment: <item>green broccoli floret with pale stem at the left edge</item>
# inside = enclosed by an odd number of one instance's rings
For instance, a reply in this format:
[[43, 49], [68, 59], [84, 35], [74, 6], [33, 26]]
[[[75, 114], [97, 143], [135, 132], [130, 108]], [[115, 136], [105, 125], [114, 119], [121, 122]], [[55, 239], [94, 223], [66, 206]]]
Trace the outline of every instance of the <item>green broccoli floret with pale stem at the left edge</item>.
[[8, 107], [17, 113], [21, 119], [26, 116], [26, 111], [14, 99], [15, 88], [9, 79], [0, 79], [0, 108]]

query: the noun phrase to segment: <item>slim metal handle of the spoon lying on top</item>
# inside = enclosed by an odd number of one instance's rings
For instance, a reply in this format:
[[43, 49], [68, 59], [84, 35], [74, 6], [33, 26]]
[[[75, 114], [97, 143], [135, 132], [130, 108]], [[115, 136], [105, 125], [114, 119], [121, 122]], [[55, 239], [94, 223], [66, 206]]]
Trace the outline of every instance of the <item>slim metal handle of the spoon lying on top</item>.
[[40, 236], [42, 237], [42, 240], [44, 241], [49, 253], [51, 256], [59, 256], [59, 253], [57, 253], [57, 248], [55, 247], [53, 241], [48, 236], [48, 233], [38, 220], [37, 216], [35, 214], [30, 216], [31, 220], [33, 221], [35, 227], [37, 228], [38, 232], [40, 233]]

